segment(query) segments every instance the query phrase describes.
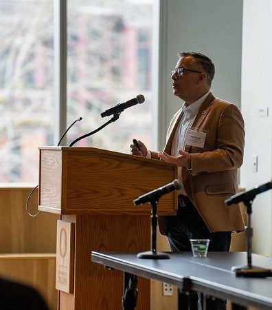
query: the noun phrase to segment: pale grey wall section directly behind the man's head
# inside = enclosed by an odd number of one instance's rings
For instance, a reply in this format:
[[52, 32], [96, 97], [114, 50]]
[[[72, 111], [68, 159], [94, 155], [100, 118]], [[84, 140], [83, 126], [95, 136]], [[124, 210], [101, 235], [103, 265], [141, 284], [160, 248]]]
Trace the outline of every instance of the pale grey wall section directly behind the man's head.
[[[215, 96], [240, 106], [242, 54], [242, 0], [157, 0], [160, 6], [159, 38], [155, 50], [158, 72], [153, 76], [159, 105], [159, 149], [165, 144], [166, 129], [181, 100], [172, 94], [170, 71], [177, 53], [203, 52], [216, 65], [212, 85]], [[156, 65], [155, 65], [156, 67]]]

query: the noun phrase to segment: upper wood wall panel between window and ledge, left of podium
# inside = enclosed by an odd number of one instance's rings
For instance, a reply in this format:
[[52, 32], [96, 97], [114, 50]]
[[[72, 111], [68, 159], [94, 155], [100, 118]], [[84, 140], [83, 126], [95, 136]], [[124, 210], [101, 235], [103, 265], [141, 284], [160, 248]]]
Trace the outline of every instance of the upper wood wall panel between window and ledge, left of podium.
[[[0, 188], [0, 253], [56, 253], [58, 215], [42, 212], [35, 218], [25, 209], [32, 188]], [[36, 214], [38, 189], [29, 210]]]

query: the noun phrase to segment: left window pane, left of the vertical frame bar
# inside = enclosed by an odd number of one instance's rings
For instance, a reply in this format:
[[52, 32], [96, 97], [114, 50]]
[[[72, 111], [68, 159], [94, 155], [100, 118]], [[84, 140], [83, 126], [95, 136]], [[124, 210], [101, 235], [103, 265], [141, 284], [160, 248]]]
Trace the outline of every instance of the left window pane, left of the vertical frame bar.
[[0, 14], [0, 182], [34, 182], [54, 127], [52, 1], [1, 0]]

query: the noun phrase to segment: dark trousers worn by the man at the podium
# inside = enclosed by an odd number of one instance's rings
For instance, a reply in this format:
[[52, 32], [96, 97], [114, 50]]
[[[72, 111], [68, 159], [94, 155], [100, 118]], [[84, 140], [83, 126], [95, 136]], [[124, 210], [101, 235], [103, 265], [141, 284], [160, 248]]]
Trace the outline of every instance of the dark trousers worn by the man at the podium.
[[[190, 203], [188, 198], [185, 200], [185, 206], [184, 204], [182, 207], [179, 205], [177, 216], [170, 216], [169, 218], [168, 241], [171, 251], [192, 251], [190, 239], [210, 239], [209, 251], [229, 251], [231, 231], [209, 232], [194, 205]], [[202, 294], [179, 292], [179, 310], [202, 309], [201, 304], [203, 304]], [[206, 307], [209, 310], [225, 310], [227, 303], [226, 300], [208, 296]]]

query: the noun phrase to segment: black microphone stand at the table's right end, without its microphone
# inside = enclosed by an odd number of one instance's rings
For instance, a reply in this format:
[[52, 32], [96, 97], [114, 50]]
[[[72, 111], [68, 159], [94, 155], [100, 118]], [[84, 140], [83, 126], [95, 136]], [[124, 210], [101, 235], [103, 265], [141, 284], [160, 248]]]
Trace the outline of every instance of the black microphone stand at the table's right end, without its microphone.
[[271, 269], [264, 269], [261, 267], [256, 267], [252, 265], [252, 236], [253, 236], [253, 229], [251, 228], [251, 214], [252, 214], [252, 203], [253, 198], [249, 198], [243, 203], [247, 207], [247, 226], [245, 227], [246, 230], [246, 237], [247, 237], [247, 265], [246, 266], [234, 266], [231, 267], [232, 271], [236, 272], [236, 276], [240, 277], [247, 277], [247, 278], [266, 278], [272, 276]]

